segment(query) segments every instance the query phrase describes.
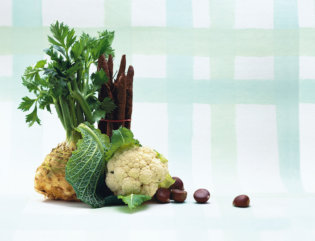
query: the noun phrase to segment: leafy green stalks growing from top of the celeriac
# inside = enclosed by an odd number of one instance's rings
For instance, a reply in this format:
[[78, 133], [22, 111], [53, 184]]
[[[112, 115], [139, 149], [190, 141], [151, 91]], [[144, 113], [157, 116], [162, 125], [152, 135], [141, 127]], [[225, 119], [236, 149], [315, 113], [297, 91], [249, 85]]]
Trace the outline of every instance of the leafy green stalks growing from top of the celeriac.
[[28, 66], [22, 76], [23, 85], [35, 97], [23, 97], [18, 109], [29, 111], [33, 106], [33, 111], [26, 115], [26, 122], [32, 126], [35, 122], [40, 124], [37, 108], [50, 112], [53, 104], [65, 130], [74, 132], [80, 123], [99, 121], [116, 107], [110, 98], [100, 102], [95, 96], [101, 84], [108, 81], [105, 72], [89, 75], [90, 65], [96, 65], [102, 54], [114, 55], [111, 48], [114, 32], [98, 32], [97, 37], [83, 32], [77, 37], [74, 29], [58, 21], [50, 25], [50, 31], [50, 47], [44, 50], [48, 61]]

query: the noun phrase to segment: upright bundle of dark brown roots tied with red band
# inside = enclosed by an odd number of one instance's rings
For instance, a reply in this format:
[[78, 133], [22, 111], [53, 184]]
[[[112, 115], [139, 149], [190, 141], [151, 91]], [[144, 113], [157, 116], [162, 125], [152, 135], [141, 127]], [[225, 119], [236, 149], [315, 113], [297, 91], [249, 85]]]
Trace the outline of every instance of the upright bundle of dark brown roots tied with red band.
[[100, 102], [103, 102], [105, 97], [112, 98], [117, 108], [112, 113], [106, 114], [105, 121], [101, 120], [98, 128], [102, 133], [111, 137], [112, 131], [117, 130], [119, 126], [130, 129], [134, 68], [129, 65], [127, 75], [125, 74], [126, 55], [123, 55], [116, 80], [114, 80], [112, 55], [109, 55], [108, 60], [106, 60], [103, 54], [98, 60], [97, 70], [100, 69], [106, 72], [109, 81], [102, 84], [98, 98]]

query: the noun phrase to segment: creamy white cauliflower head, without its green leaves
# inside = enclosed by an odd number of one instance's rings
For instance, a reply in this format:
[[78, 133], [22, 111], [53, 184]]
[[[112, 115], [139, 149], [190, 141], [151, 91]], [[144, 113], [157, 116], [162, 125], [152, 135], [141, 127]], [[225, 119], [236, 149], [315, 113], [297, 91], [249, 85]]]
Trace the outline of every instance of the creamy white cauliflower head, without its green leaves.
[[153, 196], [169, 174], [168, 162], [148, 146], [117, 150], [107, 162], [106, 185], [115, 194]]

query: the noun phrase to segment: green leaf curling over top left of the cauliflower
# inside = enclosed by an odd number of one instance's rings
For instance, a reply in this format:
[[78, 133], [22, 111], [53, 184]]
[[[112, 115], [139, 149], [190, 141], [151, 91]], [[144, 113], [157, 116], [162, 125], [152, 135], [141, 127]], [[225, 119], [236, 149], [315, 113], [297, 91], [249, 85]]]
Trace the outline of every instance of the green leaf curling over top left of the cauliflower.
[[118, 130], [113, 131], [111, 141], [112, 146], [105, 153], [106, 162], [112, 158], [114, 152], [118, 148], [139, 145], [139, 142], [137, 142], [137, 140], [134, 139], [134, 134], [132, 134], [132, 132], [129, 129], [122, 126], [120, 126]]

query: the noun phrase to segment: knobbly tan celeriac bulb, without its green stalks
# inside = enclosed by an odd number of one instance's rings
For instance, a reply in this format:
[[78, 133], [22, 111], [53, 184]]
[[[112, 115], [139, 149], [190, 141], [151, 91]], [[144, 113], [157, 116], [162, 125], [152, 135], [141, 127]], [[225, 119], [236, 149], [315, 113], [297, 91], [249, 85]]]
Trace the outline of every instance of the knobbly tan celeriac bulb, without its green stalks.
[[34, 179], [36, 192], [55, 200], [80, 201], [72, 186], [65, 180], [65, 166], [72, 151], [74, 149], [65, 144], [52, 149], [37, 168]]

